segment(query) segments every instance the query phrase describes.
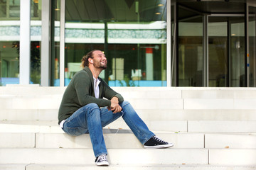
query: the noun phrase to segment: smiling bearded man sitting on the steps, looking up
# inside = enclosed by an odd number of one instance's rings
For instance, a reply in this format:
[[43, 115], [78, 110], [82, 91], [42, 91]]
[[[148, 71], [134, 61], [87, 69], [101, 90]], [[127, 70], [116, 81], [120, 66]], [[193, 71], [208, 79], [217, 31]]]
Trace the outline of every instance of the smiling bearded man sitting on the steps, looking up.
[[60, 127], [69, 135], [90, 134], [97, 166], [109, 165], [102, 128], [121, 116], [144, 147], [173, 146], [156, 137], [131, 104], [100, 79], [100, 72], [107, 68], [107, 58], [102, 51], [93, 50], [82, 57], [82, 67], [65, 90], [58, 120]]

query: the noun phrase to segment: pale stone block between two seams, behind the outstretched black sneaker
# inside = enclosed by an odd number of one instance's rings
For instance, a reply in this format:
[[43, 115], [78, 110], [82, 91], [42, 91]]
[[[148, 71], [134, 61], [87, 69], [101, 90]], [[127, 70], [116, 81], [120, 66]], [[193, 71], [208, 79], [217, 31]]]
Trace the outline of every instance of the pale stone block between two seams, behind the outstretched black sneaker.
[[[161, 133], [161, 139], [174, 143], [173, 148], [204, 148], [203, 134]], [[108, 149], [142, 149], [143, 146], [134, 134], [104, 134]], [[127, 142], [129, 141], [129, 142]], [[36, 134], [36, 148], [92, 148], [88, 134], [72, 137], [67, 134]]]

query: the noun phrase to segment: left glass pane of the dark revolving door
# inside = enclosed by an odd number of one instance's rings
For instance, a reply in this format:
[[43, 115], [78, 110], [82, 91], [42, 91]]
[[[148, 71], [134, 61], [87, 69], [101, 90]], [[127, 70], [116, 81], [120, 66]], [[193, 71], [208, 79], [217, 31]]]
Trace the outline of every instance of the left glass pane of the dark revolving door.
[[178, 86], [203, 86], [203, 17], [178, 10]]

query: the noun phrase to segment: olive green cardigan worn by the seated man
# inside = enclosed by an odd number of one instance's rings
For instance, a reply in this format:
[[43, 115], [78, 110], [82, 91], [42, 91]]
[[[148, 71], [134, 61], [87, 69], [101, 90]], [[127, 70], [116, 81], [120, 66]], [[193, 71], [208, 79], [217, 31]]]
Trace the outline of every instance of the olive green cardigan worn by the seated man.
[[92, 72], [90, 71], [89, 67], [85, 67], [74, 75], [70, 81], [70, 84], [68, 84], [67, 89], [65, 89], [63, 99], [60, 103], [58, 112], [59, 124], [62, 120], [70, 117], [70, 115], [72, 115], [79, 108], [89, 103], [96, 103], [99, 107], [110, 106], [110, 99], [114, 96], [119, 98], [119, 103], [124, 101], [124, 98], [112, 90], [110, 86], [108, 86], [102, 79], [100, 79], [99, 84], [99, 98], [95, 98], [93, 84], [94, 81]]

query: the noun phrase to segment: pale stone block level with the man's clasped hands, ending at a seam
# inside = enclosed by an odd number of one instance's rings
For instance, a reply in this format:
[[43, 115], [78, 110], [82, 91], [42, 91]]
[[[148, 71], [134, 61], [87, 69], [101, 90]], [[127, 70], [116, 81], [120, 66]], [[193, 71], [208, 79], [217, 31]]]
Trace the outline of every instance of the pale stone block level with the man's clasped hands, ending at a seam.
[[[1, 109], [58, 109], [62, 100], [61, 95], [44, 95], [44, 96], [1, 96]], [[183, 100], [174, 98], [151, 98], [129, 100], [136, 109], [146, 108], [165, 108], [165, 109], [183, 109]]]

